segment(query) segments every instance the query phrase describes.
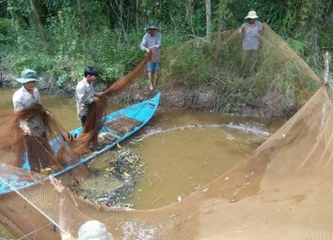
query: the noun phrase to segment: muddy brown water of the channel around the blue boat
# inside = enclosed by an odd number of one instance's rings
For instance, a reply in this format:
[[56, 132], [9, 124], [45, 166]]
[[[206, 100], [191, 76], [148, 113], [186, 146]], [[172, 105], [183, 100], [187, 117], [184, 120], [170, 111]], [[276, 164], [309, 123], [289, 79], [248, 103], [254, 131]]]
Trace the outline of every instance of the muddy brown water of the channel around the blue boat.
[[[0, 89], [0, 109], [12, 109], [13, 92]], [[41, 98], [44, 107], [51, 109], [65, 128], [80, 126], [74, 98], [43, 93]], [[122, 106], [112, 105], [109, 111], [117, 108]], [[129, 139], [137, 143], [146, 173], [124, 201], [135, 209], [153, 209], [182, 201], [249, 156], [283, 122], [158, 109], [154, 118]], [[4, 233], [0, 228], [0, 236], [1, 232]]]

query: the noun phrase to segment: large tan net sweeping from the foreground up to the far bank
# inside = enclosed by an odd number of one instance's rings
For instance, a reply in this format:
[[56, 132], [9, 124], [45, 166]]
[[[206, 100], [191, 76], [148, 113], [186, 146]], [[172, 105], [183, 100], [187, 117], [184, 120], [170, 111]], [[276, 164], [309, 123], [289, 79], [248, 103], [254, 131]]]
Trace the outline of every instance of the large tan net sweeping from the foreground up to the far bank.
[[[209, 61], [216, 64], [211, 75], [217, 78], [220, 90], [243, 84], [246, 92], [251, 84], [260, 84], [263, 90], [284, 96], [281, 105], [286, 98], [292, 98], [302, 108], [248, 159], [178, 204], [149, 211], [124, 211], [91, 204], [69, 192], [65, 218], [67, 231], [73, 236], [83, 221], [96, 219], [119, 239], [332, 238], [332, 87], [321, 84], [313, 70], [268, 26], [261, 39], [256, 76], [245, 82], [239, 82], [242, 42], [237, 30], [211, 39], [210, 44], [194, 40], [179, 46], [173, 52], [172, 70], [181, 74], [184, 59], [179, 52], [193, 52], [200, 45], [207, 50]], [[172, 52], [163, 54], [168, 59]], [[204, 66], [208, 66], [206, 62], [195, 70]], [[260, 94], [257, 92], [255, 100]], [[43, 179], [40, 173], [7, 164], [1, 176], [16, 172], [26, 172], [27, 181]], [[69, 189], [77, 184], [67, 175], [62, 178]], [[11, 188], [11, 181], [6, 182]], [[59, 225], [60, 214], [60, 196], [52, 184], [45, 180], [32, 188], [16, 190], [20, 196], [0, 196], [0, 212], [8, 228], [17, 236], [59, 239], [59, 231], [55, 233], [51, 227]]]

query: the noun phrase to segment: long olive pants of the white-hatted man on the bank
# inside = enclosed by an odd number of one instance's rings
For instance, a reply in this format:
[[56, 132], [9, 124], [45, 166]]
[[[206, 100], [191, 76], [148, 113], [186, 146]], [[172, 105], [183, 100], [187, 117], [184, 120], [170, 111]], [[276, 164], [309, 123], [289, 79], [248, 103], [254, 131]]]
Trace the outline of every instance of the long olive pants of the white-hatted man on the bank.
[[242, 51], [241, 76], [255, 76], [259, 50]]

